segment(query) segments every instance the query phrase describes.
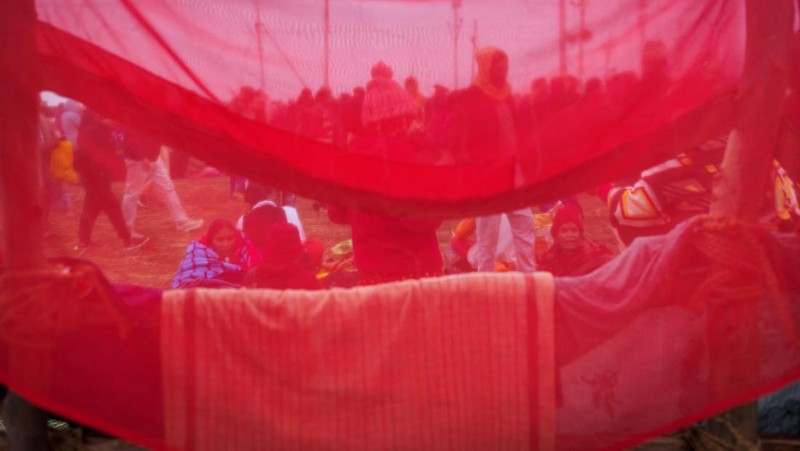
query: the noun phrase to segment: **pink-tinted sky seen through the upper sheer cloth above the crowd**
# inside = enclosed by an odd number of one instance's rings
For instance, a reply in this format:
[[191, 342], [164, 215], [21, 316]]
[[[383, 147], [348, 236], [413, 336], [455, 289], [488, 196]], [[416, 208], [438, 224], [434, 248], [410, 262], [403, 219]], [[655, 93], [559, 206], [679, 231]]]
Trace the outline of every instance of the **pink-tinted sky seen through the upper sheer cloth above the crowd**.
[[[585, 0], [585, 76], [638, 70], [645, 39], [675, 49], [676, 24], [695, 20], [706, 4], [725, 0]], [[735, 3], [735, 2], [734, 2]], [[458, 84], [471, 78], [472, 42], [509, 54], [510, 81], [527, 91], [537, 76], [558, 73], [558, 0], [463, 0], [458, 10]], [[214, 96], [227, 99], [241, 85], [264, 87], [273, 98], [297, 95], [324, 81], [324, 0], [148, 0], [138, 12], [169, 50]], [[579, 26], [580, 1], [566, 0], [567, 31]], [[112, 0], [39, 0], [41, 20], [87, 39], [157, 75], [202, 92], [131, 12]], [[713, 8], [712, 8], [713, 9]], [[698, 13], [699, 14], [699, 13]], [[260, 17], [262, 52], [256, 23]], [[335, 93], [364, 85], [378, 60], [395, 79], [420, 80], [425, 93], [435, 83], [454, 83], [453, 8], [450, 0], [330, 0], [330, 85]], [[721, 50], [722, 51], [722, 50]], [[736, 51], [732, 49], [731, 51]], [[569, 46], [569, 72], [578, 73], [578, 45]], [[260, 69], [261, 68], [261, 69]]]

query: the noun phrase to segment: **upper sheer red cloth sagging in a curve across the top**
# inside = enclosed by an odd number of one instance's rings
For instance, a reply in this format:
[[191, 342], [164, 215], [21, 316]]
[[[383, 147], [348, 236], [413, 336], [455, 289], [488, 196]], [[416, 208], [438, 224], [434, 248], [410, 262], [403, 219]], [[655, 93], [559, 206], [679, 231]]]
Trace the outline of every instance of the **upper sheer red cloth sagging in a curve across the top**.
[[[384, 212], [496, 211], [634, 174], [731, 128], [743, 56], [738, 1], [87, 0], [37, 10], [44, 88], [221, 169]], [[491, 62], [473, 58], [486, 46], [508, 56], [494, 100], [511, 113], [499, 121], [468, 89], [491, 91]], [[385, 70], [372, 70], [379, 62]], [[416, 111], [398, 92], [407, 77], [418, 82]], [[411, 151], [358, 146], [400, 117], [414, 122]], [[498, 142], [498, 130], [515, 142]]]

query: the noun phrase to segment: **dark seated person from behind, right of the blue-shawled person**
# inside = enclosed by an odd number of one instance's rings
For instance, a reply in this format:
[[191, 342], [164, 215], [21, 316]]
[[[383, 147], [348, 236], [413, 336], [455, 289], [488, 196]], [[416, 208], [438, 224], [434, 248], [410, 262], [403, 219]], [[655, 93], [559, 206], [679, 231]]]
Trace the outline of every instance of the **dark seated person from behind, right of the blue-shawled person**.
[[260, 243], [261, 262], [244, 278], [248, 288], [319, 289], [311, 258], [300, 242], [297, 227], [287, 222], [274, 222], [255, 237]]

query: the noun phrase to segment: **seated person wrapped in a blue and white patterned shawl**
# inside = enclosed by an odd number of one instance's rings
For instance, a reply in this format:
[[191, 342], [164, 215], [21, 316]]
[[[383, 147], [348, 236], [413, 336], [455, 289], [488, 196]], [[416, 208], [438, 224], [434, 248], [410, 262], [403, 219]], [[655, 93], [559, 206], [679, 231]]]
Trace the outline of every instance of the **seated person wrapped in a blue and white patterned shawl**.
[[186, 248], [172, 288], [239, 286], [252, 257], [252, 245], [233, 223], [215, 219], [206, 234]]

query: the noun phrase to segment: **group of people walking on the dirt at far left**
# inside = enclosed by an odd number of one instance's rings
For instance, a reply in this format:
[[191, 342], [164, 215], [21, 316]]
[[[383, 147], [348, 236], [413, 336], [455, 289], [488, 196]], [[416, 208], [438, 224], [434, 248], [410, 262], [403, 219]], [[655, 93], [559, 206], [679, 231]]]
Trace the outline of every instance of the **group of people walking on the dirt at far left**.
[[[190, 232], [203, 220], [190, 218], [175, 191], [161, 158], [162, 145], [133, 128], [103, 118], [69, 100], [50, 116], [39, 117], [39, 149], [45, 192], [51, 208], [65, 208], [71, 199], [66, 184], [80, 182], [84, 189], [75, 250], [92, 245], [92, 231], [104, 213], [127, 250], [134, 251], [150, 238], [134, 226], [141, 195], [152, 188], [167, 206], [177, 230]], [[112, 181], [125, 181], [122, 199], [111, 189]]]

